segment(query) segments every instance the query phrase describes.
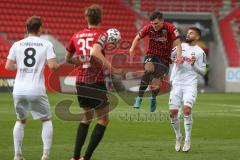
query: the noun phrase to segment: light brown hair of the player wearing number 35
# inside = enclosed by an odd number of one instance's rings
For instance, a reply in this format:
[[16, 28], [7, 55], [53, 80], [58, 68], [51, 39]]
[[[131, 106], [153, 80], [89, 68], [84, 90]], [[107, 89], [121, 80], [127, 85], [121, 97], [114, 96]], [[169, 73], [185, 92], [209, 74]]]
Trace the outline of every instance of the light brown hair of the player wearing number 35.
[[102, 22], [102, 7], [96, 4], [91, 5], [85, 10], [85, 17], [89, 24], [98, 25]]

